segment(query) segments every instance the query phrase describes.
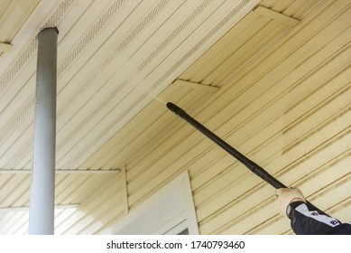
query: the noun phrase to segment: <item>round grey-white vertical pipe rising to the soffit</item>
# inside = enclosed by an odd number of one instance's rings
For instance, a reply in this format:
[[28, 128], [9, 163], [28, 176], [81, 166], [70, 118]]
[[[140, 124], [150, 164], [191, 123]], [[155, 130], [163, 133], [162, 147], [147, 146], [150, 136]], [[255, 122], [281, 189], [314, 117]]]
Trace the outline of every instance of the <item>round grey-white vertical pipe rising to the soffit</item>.
[[55, 202], [57, 28], [38, 34], [30, 235], [53, 235]]

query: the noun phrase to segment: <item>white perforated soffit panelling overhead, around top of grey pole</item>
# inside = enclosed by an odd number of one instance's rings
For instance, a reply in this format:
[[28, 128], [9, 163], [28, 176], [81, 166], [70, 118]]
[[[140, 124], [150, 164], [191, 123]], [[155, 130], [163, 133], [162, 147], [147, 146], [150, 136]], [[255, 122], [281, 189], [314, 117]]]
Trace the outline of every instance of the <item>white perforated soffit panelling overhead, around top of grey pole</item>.
[[259, 3], [52, 2], [42, 1], [14, 37], [23, 47], [0, 58], [2, 169], [32, 167], [35, 35], [43, 27], [60, 30], [57, 169], [76, 169]]

